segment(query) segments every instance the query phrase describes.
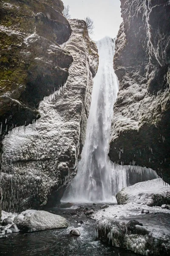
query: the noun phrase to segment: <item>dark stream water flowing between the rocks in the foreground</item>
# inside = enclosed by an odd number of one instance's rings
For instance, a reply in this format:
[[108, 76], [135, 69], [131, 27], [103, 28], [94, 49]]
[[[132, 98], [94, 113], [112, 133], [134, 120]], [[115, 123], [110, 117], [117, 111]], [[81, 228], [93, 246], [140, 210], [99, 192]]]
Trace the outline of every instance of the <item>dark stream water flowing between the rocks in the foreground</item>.
[[[67, 218], [67, 229], [9, 234], [6, 239], [0, 239], [0, 256], [138, 256], [128, 250], [108, 247], [96, 241], [95, 221], [91, 218], [70, 215], [74, 209], [52, 210]], [[78, 225], [79, 220], [84, 223]], [[78, 228], [81, 236], [70, 235], [73, 228]]]

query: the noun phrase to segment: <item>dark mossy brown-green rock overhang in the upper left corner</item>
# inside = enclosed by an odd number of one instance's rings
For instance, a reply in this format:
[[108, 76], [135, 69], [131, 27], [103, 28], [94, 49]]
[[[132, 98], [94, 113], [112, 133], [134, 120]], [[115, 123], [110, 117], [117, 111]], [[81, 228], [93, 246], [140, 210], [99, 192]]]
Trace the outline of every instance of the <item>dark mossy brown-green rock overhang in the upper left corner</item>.
[[61, 0], [0, 1], [0, 166], [5, 134], [39, 118], [40, 101], [68, 78], [73, 58], [59, 44], [71, 27], [62, 10]]

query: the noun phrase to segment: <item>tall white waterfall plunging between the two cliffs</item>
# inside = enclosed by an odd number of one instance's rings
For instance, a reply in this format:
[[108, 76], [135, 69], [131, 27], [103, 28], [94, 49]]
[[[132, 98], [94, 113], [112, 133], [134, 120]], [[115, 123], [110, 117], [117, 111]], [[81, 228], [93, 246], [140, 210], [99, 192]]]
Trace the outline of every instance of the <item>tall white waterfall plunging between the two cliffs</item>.
[[82, 160], [63, 201], [113, 202], [118, 187], [120, 190], [126, 186], [124, 167], [111, 164], [107, 157], [113, 104], [119, 90], [113, 70], [115, 40], [105, 37], [96, 45], [99, 50], [99, 69], [94, 79]]

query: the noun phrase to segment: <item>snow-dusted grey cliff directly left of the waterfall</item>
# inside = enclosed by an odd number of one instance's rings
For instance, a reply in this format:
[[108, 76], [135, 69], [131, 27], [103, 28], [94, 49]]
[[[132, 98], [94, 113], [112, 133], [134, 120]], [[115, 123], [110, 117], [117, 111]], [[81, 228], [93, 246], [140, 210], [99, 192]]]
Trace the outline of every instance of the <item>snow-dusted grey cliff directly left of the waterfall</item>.
[[62, 45], [62, 51], [69, 52], [74, 61], [65, 86], [41, 102], [41, 118], [36, 125], [29, 125], [26, 131], [23, 127], [4, 140], [1, 175], [4, 210], [55, 205], [77, 172], [98, 53], [88, 37], [85, 21], [69, 20], [69, 23], [72, 34]]

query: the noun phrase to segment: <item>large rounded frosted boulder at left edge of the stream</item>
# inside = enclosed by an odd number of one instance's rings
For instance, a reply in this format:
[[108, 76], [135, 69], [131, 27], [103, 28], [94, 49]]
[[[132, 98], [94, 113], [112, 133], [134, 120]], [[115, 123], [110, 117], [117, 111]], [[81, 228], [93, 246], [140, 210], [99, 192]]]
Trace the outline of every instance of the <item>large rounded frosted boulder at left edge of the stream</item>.
[[26, 210], [14, 218], [14, 223], [24, 232], [68, 227], [67, 220], [46, 211]]

